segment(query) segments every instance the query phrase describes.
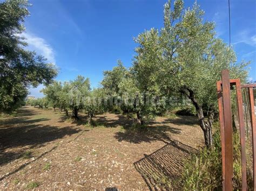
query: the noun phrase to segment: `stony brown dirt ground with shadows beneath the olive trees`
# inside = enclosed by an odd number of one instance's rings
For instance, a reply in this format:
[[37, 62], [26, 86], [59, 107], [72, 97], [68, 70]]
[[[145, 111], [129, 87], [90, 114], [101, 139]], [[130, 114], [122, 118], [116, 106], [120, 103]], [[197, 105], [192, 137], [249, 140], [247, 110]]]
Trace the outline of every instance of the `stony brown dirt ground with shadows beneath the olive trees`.
[[0, 189], [158, 189], [203, 145], [195, 117], [157, 117], [143, 133], [123, 115], [95, 121], [33, 107], [0, 119]]

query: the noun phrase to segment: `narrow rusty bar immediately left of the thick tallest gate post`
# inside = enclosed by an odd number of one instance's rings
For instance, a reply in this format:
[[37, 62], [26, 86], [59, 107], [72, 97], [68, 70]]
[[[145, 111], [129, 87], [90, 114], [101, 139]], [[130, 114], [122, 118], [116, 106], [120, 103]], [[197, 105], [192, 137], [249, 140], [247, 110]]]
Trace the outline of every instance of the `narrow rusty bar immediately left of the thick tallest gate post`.
[[225, 190], [225, 129], [223, 116], [223, 96], [221, 91], [221, 81], [217, 82], [218, 105], [219, 105], [219, 120], [220, 120], [220, 139], [221, 139], [221, 155], [222, 155], [222, 184]]

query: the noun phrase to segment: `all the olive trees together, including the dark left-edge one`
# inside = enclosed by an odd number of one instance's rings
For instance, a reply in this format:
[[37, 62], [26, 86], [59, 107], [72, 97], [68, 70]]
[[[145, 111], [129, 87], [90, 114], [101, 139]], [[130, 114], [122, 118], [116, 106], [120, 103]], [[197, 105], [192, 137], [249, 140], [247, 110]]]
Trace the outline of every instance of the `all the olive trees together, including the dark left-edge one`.
[[[42, 56], [24, 49], [22, 23], [29, 15], [25, 0], [0, 3], [0, 111], [11, 111], [28, 94], [28, 87], [44, 83], [47, 105], [61, 110], [86, 110], [90, 120], [97, 111], [113, 109], [136, 113], [142, 125], [170, 109], [170, 97], [190, 100], [197, 111], [205, 144], [212, 146], [212, 122], [217, 113], [216, 81], [221, 70], [232, 78], [246, 80], [246, 62], [237, 62], [232, 48], [215, 36], [214, 23], [204, 21], [197, 3], [185, 9], [182, 0], [164, 6], [164, 27], [140, 33], [130, 68], [121, 61], [104, 72], [102, 88], [90, 88], [89, 79], [78, 76], [70, 82], [52, 82], [56, 68]], [[103, 98], [104, 97], [104, 98]], [[97, 100], [97, 101], [95, 101]], [[41, 104], [42, 105], [42, 104]], [[206, 118], [205, 118], [206, 116]]]

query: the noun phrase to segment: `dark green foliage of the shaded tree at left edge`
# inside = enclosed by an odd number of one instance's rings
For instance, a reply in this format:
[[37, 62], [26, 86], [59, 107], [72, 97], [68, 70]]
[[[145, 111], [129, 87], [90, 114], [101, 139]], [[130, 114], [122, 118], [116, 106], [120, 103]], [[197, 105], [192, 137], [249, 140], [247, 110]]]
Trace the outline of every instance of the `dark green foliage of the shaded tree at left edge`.
[[0, 3], [0, 112], [18, 108], [28, 94], [28, 87], [50, 83], [57, 75], [51, 63], [43, 56], [26, 51], [21, 33], [29, 15], [26, 0]]

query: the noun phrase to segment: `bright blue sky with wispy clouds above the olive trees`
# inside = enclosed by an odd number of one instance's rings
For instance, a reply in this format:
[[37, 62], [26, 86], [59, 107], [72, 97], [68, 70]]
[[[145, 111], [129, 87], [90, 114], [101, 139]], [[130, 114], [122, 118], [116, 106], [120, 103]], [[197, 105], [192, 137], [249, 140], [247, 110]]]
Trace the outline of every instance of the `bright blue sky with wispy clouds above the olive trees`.
[[[167, 1], [167, 0], [166, 0]], [[129, 67], [133, 37], [163, 27], [163, 0], [31, 0], [24, 36], [29, 49], [54, 62], [59, 81], [89, 77], [92, 87], [120, 59]], [[194, 1], [185, 0], [186, 8]], [[198, 0], [205, 19], [214, 20], [217, 36], [228, 43], [228, 0]], [[256, 80], [256, 1], [231, 0], [231, 43], [238, 61], [251, 60], [250, 80]], [[31, 95], [42, 97], [39, 90]]]

